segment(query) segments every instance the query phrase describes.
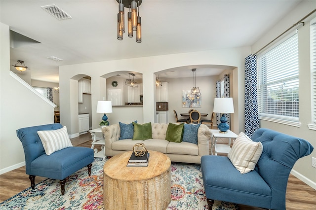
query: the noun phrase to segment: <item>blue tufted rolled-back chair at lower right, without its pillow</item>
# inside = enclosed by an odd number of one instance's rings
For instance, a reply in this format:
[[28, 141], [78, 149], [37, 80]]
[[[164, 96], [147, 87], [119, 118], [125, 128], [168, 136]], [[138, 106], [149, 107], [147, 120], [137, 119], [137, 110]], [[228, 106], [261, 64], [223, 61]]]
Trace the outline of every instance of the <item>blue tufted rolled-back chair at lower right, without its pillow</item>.
[[295, 162], [313, 151], [306, 140], [269, 129], [258, 129], [253, 141], [263, 144], [255, 170], [240, 174], [228, 157], [201, 157], [201, 171], [209, 209], [214, 200], [273, 210], [285, 210], [288, 176]]

